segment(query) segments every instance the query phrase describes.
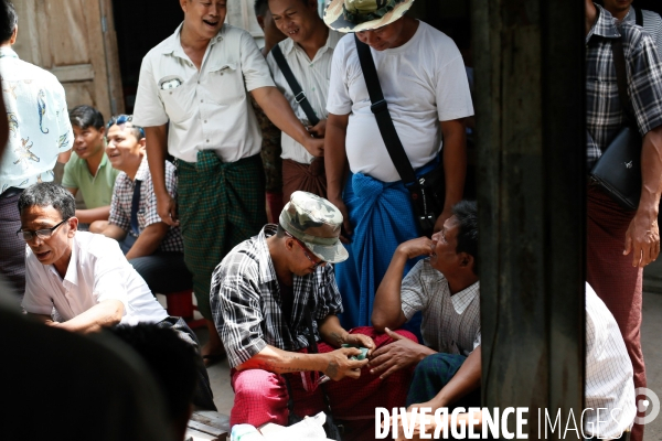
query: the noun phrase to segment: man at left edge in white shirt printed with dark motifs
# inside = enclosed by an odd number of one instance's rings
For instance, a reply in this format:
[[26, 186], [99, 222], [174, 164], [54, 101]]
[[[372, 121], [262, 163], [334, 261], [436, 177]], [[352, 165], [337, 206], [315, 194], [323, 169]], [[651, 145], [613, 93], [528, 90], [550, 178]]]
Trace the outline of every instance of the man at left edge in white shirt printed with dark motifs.
[[25, 245], [15, 236], [21, 226], [17, 201], [35, 182], [53, 181], [53, 168], [68, 160], [74, 137], [64, 88], [50, 72], [19, 58], [11, 49], [19, 32], [17, 11], [7, 0], [0, 8], [8, 17], [0, 29], [0, 73], [9, 121], [0, 162], [0, 272], [22, 293]]

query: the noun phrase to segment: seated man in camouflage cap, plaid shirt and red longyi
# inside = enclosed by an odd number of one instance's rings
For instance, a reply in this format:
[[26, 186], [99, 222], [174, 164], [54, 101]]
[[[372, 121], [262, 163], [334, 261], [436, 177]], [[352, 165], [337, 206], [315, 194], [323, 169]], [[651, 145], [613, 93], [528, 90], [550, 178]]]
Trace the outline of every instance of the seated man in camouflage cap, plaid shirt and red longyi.
[[[267, 224], [237, 245], [214, 270], [212, 313], [235, 391], [231, 426], [286, 424], [287, 384], [295, 413], [316, 415], [324, 409], [318, 385], [329, 378], [324, 391], [334, 418], [352, 419], [356, 431], [374, 432], [375, 407], [404, 406], [410, 370], [381, 380], [369, 373], [367, 359], [350, 359], [360, 349], [342, 347], [365, 347], [370, 356], [393, 340], [371, 327], [348, 332], [340, 325], [342, 303], [330, 263], [348, 258], [341, 225], [329, 201], [295, 192], [278, 225]], [[312, 338], [318, 354], [310, 354]]]

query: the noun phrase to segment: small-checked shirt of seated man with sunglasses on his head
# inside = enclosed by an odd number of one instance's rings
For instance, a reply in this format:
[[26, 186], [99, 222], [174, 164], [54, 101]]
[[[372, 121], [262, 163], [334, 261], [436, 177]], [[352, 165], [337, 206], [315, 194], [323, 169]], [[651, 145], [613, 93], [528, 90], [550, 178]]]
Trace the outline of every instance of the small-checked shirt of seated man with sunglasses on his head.
[[[113, 191], [113, 203], [110, 204], [110, 215], [108, 223], [117, 225], [121, 229], [128, 232], [134, 237], [138, 237], [131, 229], [131, 205], [134, 202], [134, 190], [136, 181], [141, 181], [140, 184], [140, 202], [138, 203], [138, 230], [140, 234], [148, 226], [161, 220], [161, 216], [157, 212], [157, 195], [154, 185], [149, 172], [147, 155], [142, 158], [140, 166], [136, 172], [136, 178], [131, 180], [125, 172], [120, 172], [115, 182]], [[166, 189], [168, 193], [177, 200], [177, 175], [174, 165], [166, 161]], [[180, 251], [184, 252], [184, 243], [179, 227], [171, 226], [168, 229], [158, 251]]]

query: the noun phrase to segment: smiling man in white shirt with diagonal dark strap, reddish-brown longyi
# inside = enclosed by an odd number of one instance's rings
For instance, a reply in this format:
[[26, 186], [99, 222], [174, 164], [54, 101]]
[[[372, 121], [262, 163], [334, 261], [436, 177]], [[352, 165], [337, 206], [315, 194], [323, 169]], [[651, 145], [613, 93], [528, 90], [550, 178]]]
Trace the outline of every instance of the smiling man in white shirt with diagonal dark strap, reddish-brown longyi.
[[[342, 37], [340, 32], [324, 25], [318, 14], [316, 0], [268, 0], [269, 10], [276, 26], [288, 39], [270, 51], [267, 63], [276, 86], [289, 101], [297, 118], [308, 127], [308, 131], [324, 138], [327, 132], [327, 97], [333, 50]], [[295, 94], [277, 62], [274, 51], [279, 51], [289, 66], [302, 94]], [[310, 121], [303, 110], [303, 100], [310, 105], [318, 121]], [[311, 154], [291, 137], [282, 135], [282, 198], [289, 201], [297, 191], [327, 196], [327, 174], [324, 157]]]

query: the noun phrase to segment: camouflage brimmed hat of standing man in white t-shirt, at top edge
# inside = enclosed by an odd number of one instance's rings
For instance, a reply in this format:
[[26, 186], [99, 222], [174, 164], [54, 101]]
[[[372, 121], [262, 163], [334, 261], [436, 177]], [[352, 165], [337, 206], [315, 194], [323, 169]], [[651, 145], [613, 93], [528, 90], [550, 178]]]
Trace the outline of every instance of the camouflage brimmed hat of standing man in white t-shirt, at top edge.
[[339, 32], [377, 29], [398, 20], [414, 0], [331, 0], [324, 23]]

